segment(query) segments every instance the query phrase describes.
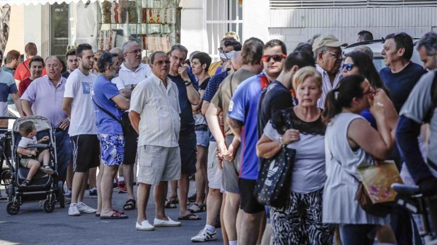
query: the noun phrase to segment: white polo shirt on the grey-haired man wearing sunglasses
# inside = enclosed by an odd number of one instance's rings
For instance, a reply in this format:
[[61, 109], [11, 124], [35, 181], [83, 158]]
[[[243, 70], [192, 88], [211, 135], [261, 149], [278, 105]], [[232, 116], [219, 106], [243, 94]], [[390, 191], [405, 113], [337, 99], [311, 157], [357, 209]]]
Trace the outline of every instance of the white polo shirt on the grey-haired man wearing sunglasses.
[[120, 66], [118, 77], [112, 79], [112, 83], [117, 85], [118, 90], [134, 90], [135, 85], [145, 80], [147, 77], [150, 77], [151, 73], [152, 71], [150, 66], [147, 64], [141, 63], [135, 71], [131, 71], [126, 68], [125, 64], [123, 63]]

